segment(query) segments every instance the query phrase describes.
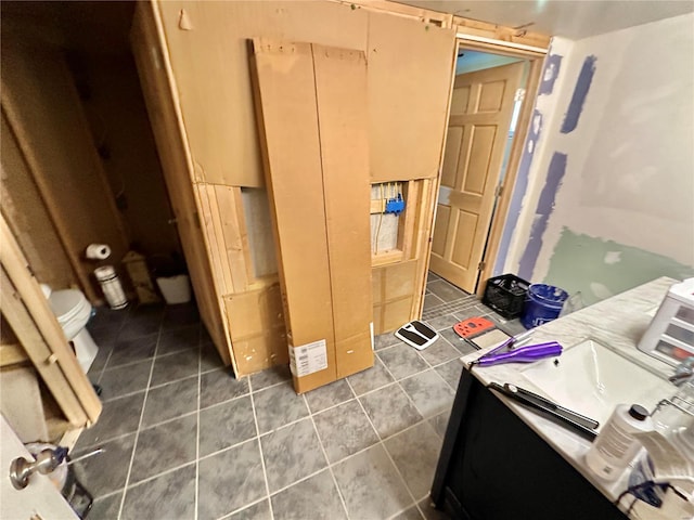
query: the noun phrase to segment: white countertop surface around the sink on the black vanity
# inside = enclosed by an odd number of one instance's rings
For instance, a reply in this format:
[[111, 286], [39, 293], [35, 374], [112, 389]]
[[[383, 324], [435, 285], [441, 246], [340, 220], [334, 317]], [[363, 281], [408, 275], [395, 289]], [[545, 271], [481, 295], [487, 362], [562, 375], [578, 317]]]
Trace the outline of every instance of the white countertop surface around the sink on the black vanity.
[[[529, 343], [555, 340], [564, 347], [566, 352], [567, 349], [580, 344], [587, 339], [594, 339], [604, 346], [608, 346], [609, 350], [619, 353], [642, 367], [647, 367], [651, 373], [660, 376], [663, 385], [660, 386], [658, 382], [656, 393], [663, 392], [663, 395], [656, 395], [654, 400], [669, 398], [677, 390], [673, 385], [667, 381], [667, 377], [672, 375], [673, 368], [641, 352], [637, 349], [637, 344], [651, 323], [654, 310], [659, 307], [668, 288], [676, 282], [672, 278], [661, 277], [550, 322], [535, 330]], [[465, 355], [462, 361], [470, 367], [472, 361], [488, 350], [490, 349]], [[537, 363], [545, 363], [548, 370], [551, 370], [553, 366], [552, 360], [543, 360]], [[528, 366], [527, 364], [518, 363], [487, 367], [474, 366], [473, 374], [484, 385], [492, 381], [499, 384], [509, 382], [553, 399], [552, 395], [548, 395], [547, 392], [532, 385], [523, 375], [523, 370]], [[634, 388], [638, 388], [638, 381], [634, 381]], [[614, 502], [627, 487], [630, 468], [617, 481], [605, 482], [599, 479], [583, 463], [586, 452], [590, 447], [589, 441], [502, 395], [499, 396], [524, 422], [593, 483], [608, 499]], [[571, 407], [571, 403], [557, 402], [557, 404], [581, 413], [580, 410]], [[630, 503], [631, 500], [624, 499], [621, 504], [622, 510]], [[639, 518], [660, 518], [658, 511], [650, 506], [646, 506], [646, 508], [650, 511], [644, 511], [643, 509], [645, 508], [639, 508], [641, 509]], [[645, 517], [644, 514], [646, 514]]]

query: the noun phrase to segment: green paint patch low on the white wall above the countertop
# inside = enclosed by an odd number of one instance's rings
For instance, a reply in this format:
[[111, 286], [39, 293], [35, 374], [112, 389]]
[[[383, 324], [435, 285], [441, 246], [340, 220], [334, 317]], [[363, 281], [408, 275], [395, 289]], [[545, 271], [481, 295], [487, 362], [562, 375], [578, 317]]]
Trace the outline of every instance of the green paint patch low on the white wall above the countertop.
[[694, 268], [564, 227], [543, 283], [562, 287], [569, 295], [580, 291], [588, 306], [660, 276], [692, 277]]

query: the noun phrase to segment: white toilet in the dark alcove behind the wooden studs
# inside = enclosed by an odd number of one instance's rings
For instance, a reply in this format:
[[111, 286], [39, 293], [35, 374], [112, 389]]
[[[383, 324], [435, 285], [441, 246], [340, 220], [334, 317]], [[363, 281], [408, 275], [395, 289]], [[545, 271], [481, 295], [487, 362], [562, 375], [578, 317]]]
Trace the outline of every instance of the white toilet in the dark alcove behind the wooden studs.
[[99, 347], [87, 330], [87, 322], [92, 313], [91, 303], [76, 289], [52, 290], [46, 284], [41, 284], [41, 289], [65, 337], [75, 347], [79, 366], [87, 374], [99, 352]]

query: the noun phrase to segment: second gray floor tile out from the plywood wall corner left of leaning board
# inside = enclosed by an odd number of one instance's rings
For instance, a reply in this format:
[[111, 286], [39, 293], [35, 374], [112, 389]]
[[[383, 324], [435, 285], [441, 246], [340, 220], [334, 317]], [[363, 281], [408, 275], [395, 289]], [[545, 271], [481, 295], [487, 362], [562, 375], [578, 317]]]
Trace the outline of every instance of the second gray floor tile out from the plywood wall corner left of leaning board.
[[200, 456], [256, 435], [250, 396], [234, 399], [200, 412]]

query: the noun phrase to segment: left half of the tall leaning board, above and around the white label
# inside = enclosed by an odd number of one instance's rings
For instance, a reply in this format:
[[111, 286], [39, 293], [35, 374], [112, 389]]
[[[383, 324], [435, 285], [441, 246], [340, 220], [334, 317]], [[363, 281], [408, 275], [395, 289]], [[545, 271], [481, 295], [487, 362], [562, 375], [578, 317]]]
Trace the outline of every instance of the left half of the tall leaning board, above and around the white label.
[[335, 380], [336, 369], [312, 51], [269, 40], [254, 41], [254, 51], [290, 348], [326, 342], [327, 368], [301, 378], [317, 388]]

